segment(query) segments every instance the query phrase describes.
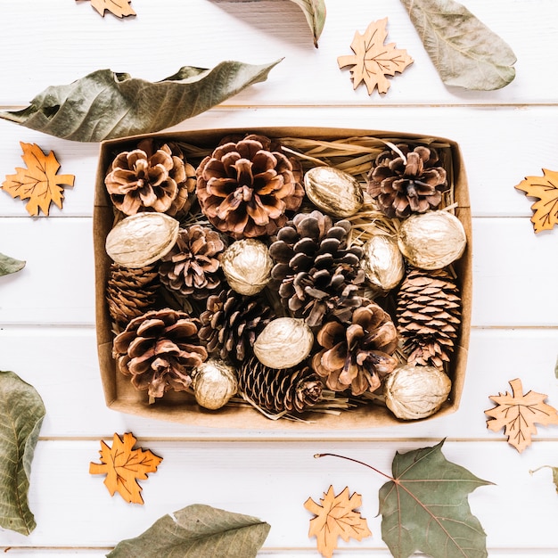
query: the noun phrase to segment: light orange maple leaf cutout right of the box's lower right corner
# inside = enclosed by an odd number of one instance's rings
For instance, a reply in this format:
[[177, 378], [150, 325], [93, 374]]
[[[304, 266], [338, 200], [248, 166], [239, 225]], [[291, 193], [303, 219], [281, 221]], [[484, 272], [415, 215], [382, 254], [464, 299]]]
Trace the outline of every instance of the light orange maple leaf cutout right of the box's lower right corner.
[[536, 391], [523, 394], [521, 380], [510, 382], [512, 394], [500, 393], [490, 396], [496, 406], [485, 411], [492, 417], [487, 421], [491, 431], [504, 429], [508, 443], [520, 453], [531, 444], [531, 435], [537, 434], [537, 424], [558, 424], [558, 411], [554, 406], [546, 405], [547, 396]]

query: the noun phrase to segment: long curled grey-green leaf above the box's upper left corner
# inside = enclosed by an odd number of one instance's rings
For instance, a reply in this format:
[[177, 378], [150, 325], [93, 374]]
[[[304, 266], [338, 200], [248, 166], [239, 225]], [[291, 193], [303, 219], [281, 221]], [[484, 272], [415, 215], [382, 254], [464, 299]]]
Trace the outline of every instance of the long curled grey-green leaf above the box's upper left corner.
[[279, 62], [261, 66], [221, 62], [212, 70], [185, 66], [157, 82], [96, 70], [70, 85], [47, 87], [29, 107], [0, 111], [0, 118], [78, 142], [149, 134], [265, 81]]

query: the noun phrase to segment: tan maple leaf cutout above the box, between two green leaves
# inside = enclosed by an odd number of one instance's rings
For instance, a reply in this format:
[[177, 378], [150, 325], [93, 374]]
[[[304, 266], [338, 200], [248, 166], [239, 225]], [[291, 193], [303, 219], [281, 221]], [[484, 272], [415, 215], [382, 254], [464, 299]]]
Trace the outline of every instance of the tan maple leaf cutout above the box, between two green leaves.
[[414, 62], [406, 50], [396, 48], [395, 43], [383, 44], [388, 36], [387, 24], [388, 18], [384, 18], [373, 21], [365, 30], [364, 35], [360, 35], [356, 31], [350, 45], [355, 54], [337, 58], [340, 68], [353, 66], [350, 73], [354, 89], [357, 89], [357, 86], [364, 81], [368, 94], [373, 94], [376, 86], [379, 93], [387, 93], [390, 88], [390, 80], [386, 76], [395, 76], [396, 71], [402, 72]]

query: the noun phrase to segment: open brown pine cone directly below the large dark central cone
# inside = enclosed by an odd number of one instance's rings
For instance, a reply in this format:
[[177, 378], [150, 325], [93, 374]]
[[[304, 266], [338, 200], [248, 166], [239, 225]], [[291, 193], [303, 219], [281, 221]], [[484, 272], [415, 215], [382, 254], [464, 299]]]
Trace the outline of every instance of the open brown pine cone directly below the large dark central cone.
[[333, 391], [350, 388], [353, 395], [361, 395], [377, 390], [398, 364], [391, 356], [398, 347], [398, 332], [375, 302], [357, 308], [349, 326], [326, 322], [316, 341], [324, 349], [312, 358], [312, 367]]

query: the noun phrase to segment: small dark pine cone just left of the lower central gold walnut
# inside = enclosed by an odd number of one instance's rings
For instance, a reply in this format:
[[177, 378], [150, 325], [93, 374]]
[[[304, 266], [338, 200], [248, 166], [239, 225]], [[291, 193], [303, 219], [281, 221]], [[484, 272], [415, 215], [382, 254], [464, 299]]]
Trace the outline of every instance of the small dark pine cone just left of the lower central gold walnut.
[[250, 297], [233, 289], [211, 295], [201, 313], [200, 339], [209, 353], [242, 362], [251, 355], [254, 341], [273, 317], [261, 297]]

